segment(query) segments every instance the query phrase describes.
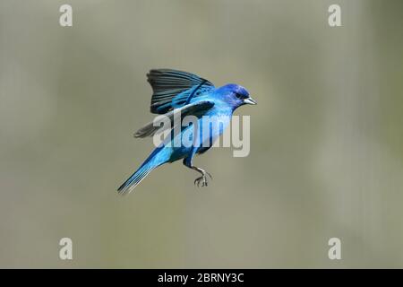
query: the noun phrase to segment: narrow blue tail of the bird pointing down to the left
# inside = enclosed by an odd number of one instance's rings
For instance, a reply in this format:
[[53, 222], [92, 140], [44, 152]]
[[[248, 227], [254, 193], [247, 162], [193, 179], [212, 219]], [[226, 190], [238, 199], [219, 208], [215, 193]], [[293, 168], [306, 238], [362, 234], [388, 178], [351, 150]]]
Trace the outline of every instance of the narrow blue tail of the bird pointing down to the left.
[[119, 195], [125, 195], [130, 193], [134, 187], [141, 182], [142, 179], [147, 177], [147, 175], [154, 170], [155, 168], [159, 167], [164, 162], [159, 162], [156, 155], [159, 152], [159, 149], [156, 149], [154, 152], [150, 154], [150, 157], [141, 164], [141, 167], [136, 170], [130, 178], [127, 178], [126, 181], [117, 188]]

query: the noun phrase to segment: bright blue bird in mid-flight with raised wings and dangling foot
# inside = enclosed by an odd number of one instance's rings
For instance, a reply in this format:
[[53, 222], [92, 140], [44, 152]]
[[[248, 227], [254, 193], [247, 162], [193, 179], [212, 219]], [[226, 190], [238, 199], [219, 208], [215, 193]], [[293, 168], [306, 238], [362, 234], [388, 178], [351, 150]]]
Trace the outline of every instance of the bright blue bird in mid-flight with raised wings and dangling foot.
[[[195, 129], [193, 125], [181, 126], [180, 133], [175, 134], [174, 130], [176, 128], [171, 126], [170, 136], [167, 136], [163, 143], [151, 152], [147, 160], [122, 186], [117, 188], [117, 191], [119, 194], [126, 194], [132, 191], [151, 170], [164, 163], [181, 159], [183, 159], [186, 167], [201, 174], [200, 178], [194, 180], [194, 184], [197, 184], [198, 187], [200, 184], [201, 187], [207, 186], [207, 176], [211, 178], [211, 175], [206, 170], [193, 165], [194, 155], [210, 149], [212, 143], [229, 124], [236, 108], [244, 104], [255, 105], [256, 101], [249, 96], [249, 92], [244, 87], [235, 83], [216, 88], [208, 80], [195, 74], [172, 69], [150, 70], [150, 73], [147, 74], [147, 81], [153, 91], [150, 106], [151, 113], [164, 115], [174, 125], [176, 114], [179, 114], [181, 119], [186, 116], [193, 116], [196, 118], [197, 126], [200, 128]], [[202, 117], [204, 116], [219, 120], [219, 129], [212, 129], [210, 125], [203, 126]], [[210, 133], [203, 133], [203, 128], [209, 128]], [[160, 129], [160, 126], [155, 126], [153, 122], [150, 122], [141, 127], [134, 134], [134, 137], [155, 135], [159, 133]], [[184, 135], [193, 140], [192, 145], [183, 144]], [[179, 145], [175, 144], [177, 140], [180, 141]]]

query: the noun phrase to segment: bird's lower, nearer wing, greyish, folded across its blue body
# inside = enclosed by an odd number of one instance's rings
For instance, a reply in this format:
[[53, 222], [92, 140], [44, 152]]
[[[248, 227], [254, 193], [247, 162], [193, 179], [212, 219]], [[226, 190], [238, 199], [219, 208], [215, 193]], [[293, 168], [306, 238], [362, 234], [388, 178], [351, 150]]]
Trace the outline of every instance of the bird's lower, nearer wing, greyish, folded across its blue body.
[[[159, 132], [163, 132], [167, 129], [167, 126], [159, 126], [159, 123], [164, 120], [164, 118], [168, 118], [170, 120], [171, 125], [169, 126], [170, 128], [174, 128], [174, 118], [176, 116], [181, 117], [181, 122], [182, 119], [185, 116], [194, 116], [194, 117], [201, 117], [204, 115], [209, 109], [211, 109], [214, 106], [214, 102], [212, 100], [200, 100], [193, 102], [191, 104], [184, 105], [181, 108], [178, 109], [173, 109], [165, 115], [160, 115], [154, 118], [154, 120], [147, 125], [141, 127], [135, 134], [134, 137], [146, 137], [146, 136], [152, 136]], [[156, 124], [154, 124], [156, 123]]]

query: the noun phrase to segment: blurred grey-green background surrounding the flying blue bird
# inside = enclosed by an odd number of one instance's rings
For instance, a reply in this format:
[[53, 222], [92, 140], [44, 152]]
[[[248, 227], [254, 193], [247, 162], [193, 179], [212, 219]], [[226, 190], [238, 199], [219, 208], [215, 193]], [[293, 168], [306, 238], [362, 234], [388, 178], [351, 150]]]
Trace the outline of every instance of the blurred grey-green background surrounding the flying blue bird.
[[[400, 0], [2, 0], [0, 267], [403, 267], [402, 28]], [[117, 196], [155, 67], [244, 85], [251, 153]]]

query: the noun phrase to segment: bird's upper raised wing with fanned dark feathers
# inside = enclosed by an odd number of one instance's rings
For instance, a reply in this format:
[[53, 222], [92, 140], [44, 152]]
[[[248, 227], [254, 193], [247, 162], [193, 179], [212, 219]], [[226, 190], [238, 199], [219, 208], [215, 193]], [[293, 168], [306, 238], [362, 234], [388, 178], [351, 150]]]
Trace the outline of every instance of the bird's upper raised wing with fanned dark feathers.
[[153, 114], [183, 107], [193, 97], [214, 89], [210, 81], [196, 74], [171, 69], [150, 70], [147, 81], [152, 88], [150, 111]]

